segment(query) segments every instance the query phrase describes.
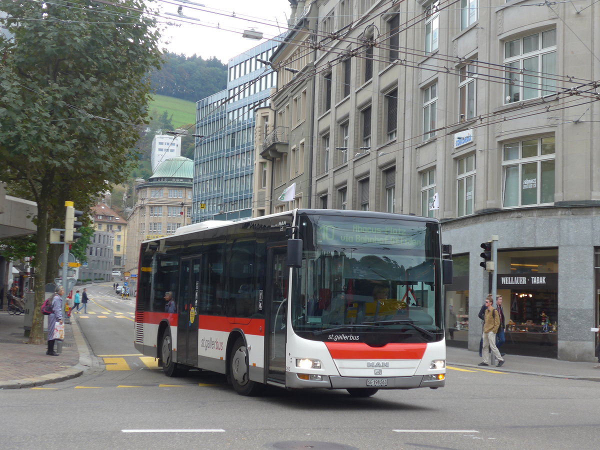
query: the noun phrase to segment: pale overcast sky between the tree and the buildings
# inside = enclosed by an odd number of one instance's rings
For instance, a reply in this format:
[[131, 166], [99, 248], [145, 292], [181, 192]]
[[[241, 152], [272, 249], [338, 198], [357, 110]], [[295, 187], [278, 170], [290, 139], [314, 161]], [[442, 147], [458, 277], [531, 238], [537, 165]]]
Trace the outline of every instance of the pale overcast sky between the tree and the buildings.
[[[161, 0], [160, 4], [161, 15], [179, 25], [167, 25], [163, 31], [166, 49], [186, 56], [196, 53], [203, 59], [217, 56], [224, 64], [265, 41], [242, 37], [244, 30], [254, 28], [265, 38], [274, 37], [285, 31], [290, 16], [288, 0]], [[178, 5], [184, 5], [181, 16]]]

